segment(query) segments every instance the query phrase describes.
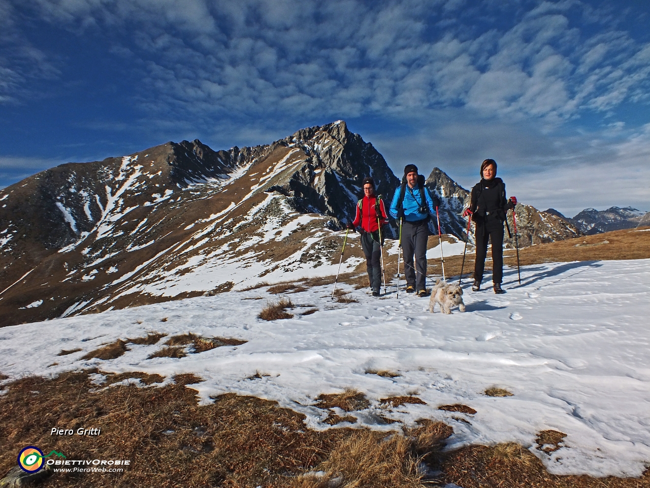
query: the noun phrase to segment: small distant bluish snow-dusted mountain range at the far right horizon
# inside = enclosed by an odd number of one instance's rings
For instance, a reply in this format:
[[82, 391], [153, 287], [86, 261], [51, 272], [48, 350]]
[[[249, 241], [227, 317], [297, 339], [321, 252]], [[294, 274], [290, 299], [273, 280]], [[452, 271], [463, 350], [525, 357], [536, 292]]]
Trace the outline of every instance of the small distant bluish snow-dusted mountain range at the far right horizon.
[[590, 236], [601, 232], [634, 228], [642, 225], [650, 225], [650, 212], [640, 211], [632, 207], [610, 207], [607, 210], [598, 211], [595, 208], [586, 208], [578, 215], [569, 219], [562, 213], [549, 208], [545, 213], [550, 213], [569, 221], [575, 225], [582, 234]]

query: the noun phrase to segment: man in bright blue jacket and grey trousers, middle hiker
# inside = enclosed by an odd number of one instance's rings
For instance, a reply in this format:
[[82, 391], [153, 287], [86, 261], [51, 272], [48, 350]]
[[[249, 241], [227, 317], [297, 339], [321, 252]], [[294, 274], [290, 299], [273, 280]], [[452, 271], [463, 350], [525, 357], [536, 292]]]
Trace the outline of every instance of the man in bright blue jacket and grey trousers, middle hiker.
[[[400, 224], [400, 244], [404, 251], [406, 293], [426, 297], [426, 242], [429, 238], [429, 216], [435, 215], [439, 201], [424, 186], [424, 176], [417, 166], [406, 165], [402, 185], [396, 189], [389, 213]], [[413, 267], [415, 255], [415, 267]], [[417, 270], [417, 277], [415, 271]]]

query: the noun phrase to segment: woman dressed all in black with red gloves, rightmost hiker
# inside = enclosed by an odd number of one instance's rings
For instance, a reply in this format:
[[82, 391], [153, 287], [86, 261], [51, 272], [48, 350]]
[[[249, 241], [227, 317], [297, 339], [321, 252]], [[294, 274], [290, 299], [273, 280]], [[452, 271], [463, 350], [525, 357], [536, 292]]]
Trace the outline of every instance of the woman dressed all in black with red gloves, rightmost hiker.
[[506, 293], [501, 289], [503, 277], [503, 223], [506, 212], [515, 208], [517, 198], [506, 200], [506, 185], [497, 176], [497, 163], [486, 159], [481, 165], [481, 181], [472, 188], [469, 208], [463, 217], [472, 216], [476, 224], [476, 261], [474, 262], [473, 291], [480, 290], [487, 255], [487, 239], [492, 242], [492, 283], [495, 293]]

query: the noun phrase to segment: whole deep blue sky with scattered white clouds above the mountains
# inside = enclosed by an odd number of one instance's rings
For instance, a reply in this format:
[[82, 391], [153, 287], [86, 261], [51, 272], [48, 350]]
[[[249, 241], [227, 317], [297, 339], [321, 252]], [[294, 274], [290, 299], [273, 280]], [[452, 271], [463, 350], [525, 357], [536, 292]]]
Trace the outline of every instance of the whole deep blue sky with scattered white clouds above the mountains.
[[647, 1], [0, 0], [0, 187], [346, 120], [396, 174], [650, 210]]

